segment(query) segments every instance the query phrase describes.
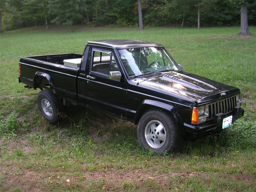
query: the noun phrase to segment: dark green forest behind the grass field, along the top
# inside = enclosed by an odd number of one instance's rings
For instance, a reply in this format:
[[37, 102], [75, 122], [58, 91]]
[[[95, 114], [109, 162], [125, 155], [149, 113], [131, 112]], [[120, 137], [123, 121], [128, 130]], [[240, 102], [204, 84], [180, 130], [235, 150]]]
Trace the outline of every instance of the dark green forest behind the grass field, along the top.
[[[240, 25], [239, 0], [141, 0], [145, 27], [229, 27]], [[256, 23], [256, 0], [247, 5]], [[3, 31], [48, 24], [138, 27], [138, 0], [1, 0]], [[199, 12], [199, 13], [198, 13]]]

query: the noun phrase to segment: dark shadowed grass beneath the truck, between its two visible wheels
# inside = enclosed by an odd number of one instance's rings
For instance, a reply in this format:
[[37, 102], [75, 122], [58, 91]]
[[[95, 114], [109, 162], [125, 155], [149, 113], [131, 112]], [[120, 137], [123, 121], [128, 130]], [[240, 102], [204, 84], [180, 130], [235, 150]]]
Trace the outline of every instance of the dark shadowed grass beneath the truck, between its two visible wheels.
[[78, 105], [66, 106], [59, 116], [59, 123], [56, 126], [65, 136], [84, 137], [97, 145], [107, 146], [113, 150], [136, 151], [140, 148], [136, 125], [121, 117], [110, 116]]

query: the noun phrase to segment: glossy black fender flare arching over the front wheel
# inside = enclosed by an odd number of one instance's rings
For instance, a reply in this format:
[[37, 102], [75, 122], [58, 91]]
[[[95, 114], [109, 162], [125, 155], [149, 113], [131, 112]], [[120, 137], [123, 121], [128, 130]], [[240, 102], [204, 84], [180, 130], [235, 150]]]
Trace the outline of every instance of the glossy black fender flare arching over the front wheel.
[[170, 114], [173, 117], [173, 120], [175, 121], [175, 124], [178, 128], [179, 133], [182, 136], [186, 136], [185, 135], [185, 130], [183, 127], [183, 123], [181, 120], [181, 117], [177, 111], [177, 109], [172, 106], [172, 105], [168, 105], [166, 103], [162, 103], [159, 101], [154, 101], [154, 100], [143, 100], [142, 103], [140, 104], [138, 110], [136, 111], [135, 117], [134, 117], [134, 123], [137, 124], [139, 121], [139, 117], [144, 113], [144, 109], [145, 108], [158, 108], [161, 109], [165, 112], [167, 112], [168, 114]]

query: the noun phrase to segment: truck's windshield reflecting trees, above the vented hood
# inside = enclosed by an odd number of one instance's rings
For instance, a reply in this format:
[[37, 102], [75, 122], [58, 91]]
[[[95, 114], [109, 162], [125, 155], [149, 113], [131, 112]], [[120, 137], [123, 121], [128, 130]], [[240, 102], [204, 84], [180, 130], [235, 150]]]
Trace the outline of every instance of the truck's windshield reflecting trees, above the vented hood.
[[172, 56], [161, 47], [139, 47], [118, 50], [130, 77], [167, 70], [181, 70]]

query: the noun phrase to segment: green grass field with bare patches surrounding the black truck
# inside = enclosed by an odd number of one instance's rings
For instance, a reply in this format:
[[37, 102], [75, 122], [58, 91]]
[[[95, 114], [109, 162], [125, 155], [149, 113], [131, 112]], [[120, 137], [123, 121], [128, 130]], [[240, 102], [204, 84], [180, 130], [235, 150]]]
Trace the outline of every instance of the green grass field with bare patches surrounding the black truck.
[[[239, 30], [42, 26], [1, 34], [0, 191], [256, 191], [256, 28]], [[82, 54], [98, 39], [163, 44], [185, 71], [240, 88], [244, 117], [163, 156], [140, 149], [134, 124], [80, 106], [49, 124], [39, 90], [18, 83], [20, 57]]]

